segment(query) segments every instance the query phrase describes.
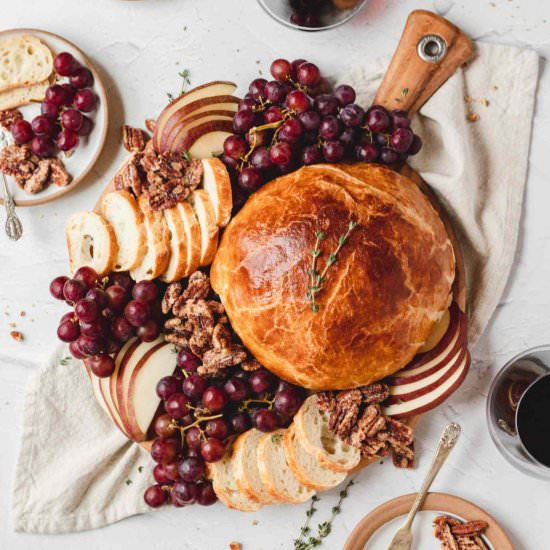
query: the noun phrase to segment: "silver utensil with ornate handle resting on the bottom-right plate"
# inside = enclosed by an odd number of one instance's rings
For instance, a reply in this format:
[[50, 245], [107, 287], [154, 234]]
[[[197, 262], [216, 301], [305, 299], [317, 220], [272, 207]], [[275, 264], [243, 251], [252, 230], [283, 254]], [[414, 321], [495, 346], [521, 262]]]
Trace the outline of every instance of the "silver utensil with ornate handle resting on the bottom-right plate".
[[416, 499], [414, 500], [409, 515], [407, 516], [405, 525], [403, 525], [403, 527], [401, 527], [401, 529], [399, 529], [399, 531], [395, 533], [395, 536], [393, 537], [393, 540], [391, 541], [388, 550], [410, 550], [412, 545], [411, 527], [416, 513], [418, 512], [418, 510], [420, 510], [422, 504], [424, 504], [424, 500], [426, 499], [426, 495], [430, 490], [433, 480], [435, 479], [435, 476], [439, 473], [441, 466], [443, 466], [443, 463], [449, 456], [450, 452], [453, 450], [453, 447], [458, 440], [460, 432], [460, 426], [458, 424], [455, 424], [454, 422], [448, 424], [443, 430], [443, 433], [439, 438], [439, 444], [437, 445], [437, 450], [432, 460], [432, 464], [430, 466], [430, 469], [428, 470], [428, 473], [426, 474], [426, 478], [422, 483], [420, 491], [418, 491], [418, 494], [416, 495]]

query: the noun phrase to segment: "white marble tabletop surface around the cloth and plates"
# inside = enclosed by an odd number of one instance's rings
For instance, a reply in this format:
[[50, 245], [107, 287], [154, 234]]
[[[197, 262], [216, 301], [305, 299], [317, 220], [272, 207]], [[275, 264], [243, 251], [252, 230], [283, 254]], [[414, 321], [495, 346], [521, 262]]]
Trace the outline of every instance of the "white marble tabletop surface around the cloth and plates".
[[[232, 540], [243, 543], [244, 550], [292, 547], [305, 506], [269, 508], [253, 515], [221, 505], [195, 506], [74, 535], [13, 532], [10, 492], [25, 385], [53, 349], [54, 326], [63, 310], [49, 297], [47, 285], [66, 271], [66, 217], [95, 202], [123, 158], [118, 145], [120, 124], [139, 125], [145, 117], [156, 115], [166, 92], [178, 91], [179, 70], [190, 69], [193, 83], [218, 78], [242, 86], [260, 71], [266, 74], [270, 61], [282, 56], [306, 57], [338, 76], [347, 66], [390, 54], [407, 13], [414, 8], [441, 10], [474, 38], [535, 48], [541, 55], [520, 246], [506, 293], [473, 350], [474, 368], [468, 380], [418, 429], [420, 468], [397, 471], [385, 464], [363, 471], [324, 547], [341, 548], [354, 525], [373, 507], [418, 488], [428, 454], [448, 420], [458, 420], [464, 436], [435, 490], [486, 508], [506, 527], [518, 549], [548, 547], [550, 484], [521, 475], [497, 453], [485, 423], [485, 397], [494, 373], [508, 358], [550, 340], [550, 74], [545, 61], [550, 56], [550, 4], [544, 0], [371, 0], [345, 27], [303, 34], [273, 22], [254, 0], [25, 0], [3, 3], [2, 26], [47, 29], [77, 43], [105, 79], [112, 119], [106, 149], [92, 177], [62, 201], [22, 210], [25, 235], [21, 242], [14, 244], [0, 235], [0, 548], [202, 550], [225, 549]], [[10, 338], [10, 323], [24, 333], [24, 342]], [[316, 519], [324, 519], [334, 498], [323, 497]]]

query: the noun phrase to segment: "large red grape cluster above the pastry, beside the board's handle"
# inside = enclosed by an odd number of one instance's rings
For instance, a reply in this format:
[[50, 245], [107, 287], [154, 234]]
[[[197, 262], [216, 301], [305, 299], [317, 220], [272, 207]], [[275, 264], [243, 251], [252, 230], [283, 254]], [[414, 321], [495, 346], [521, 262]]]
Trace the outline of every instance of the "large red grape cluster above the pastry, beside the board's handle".
[[[234, 134], [222, 160], [239, 189], [252, 193], [266, 181], [299, 166], [345, 160], [396, 164], [422, 142], [407, 113], [354, 103], [351, 86], [327, 88], [319, 68], [297, 59], [276, 59], [274, 80], [257, 78], [233, 118]], [[241, 197], [242, 200], [242, 197]]]

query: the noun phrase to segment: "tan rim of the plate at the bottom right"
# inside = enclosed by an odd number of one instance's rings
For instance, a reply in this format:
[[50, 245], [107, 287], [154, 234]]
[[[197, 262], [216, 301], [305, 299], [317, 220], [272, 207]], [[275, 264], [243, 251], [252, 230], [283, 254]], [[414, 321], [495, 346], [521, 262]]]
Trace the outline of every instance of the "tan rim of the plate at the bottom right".
[[[401, 495], [377, 506], [354, 527], [344, 543], [343, 550], [363, 550], [372, 535], [382, 525], [409, 512], [416, 496], [417, 493]], [[499, 550], [514, 550], [512, 541], [497, 520], [469, 500], [448, 493], [428, 493], [421, 510], [429, 512], [445, 510], [462, 518], [485, 520], [489, 524], [485, 536], [493, 547]]]

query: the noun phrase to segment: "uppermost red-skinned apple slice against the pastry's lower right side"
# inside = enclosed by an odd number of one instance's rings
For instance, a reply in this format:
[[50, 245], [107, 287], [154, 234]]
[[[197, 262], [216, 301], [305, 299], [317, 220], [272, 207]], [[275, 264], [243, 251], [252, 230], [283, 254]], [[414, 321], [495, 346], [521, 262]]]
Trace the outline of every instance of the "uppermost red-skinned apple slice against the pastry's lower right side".
[[437, 346], [429, 352], [416, 355], [403, 369], [388, 379], [388, 384], [398, 386], [430, 376], [447, 363], [456, 351], [465, 345], [466, 317], [460, 308], [451, 306], [451, 322]]

